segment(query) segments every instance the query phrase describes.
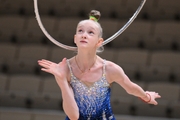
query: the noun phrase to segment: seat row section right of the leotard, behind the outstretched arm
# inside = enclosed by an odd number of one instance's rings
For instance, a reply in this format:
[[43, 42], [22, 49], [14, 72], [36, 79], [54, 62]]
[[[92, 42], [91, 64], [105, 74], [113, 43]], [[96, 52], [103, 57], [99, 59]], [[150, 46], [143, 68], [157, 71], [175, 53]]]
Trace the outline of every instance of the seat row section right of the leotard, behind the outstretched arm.
[[[180, 109], [179, 91], [177, 84], [169, 84], [165, 82], [153, 82], [145, 84], [144, 82], [134, 81], [146, 91], [156, 91], [161, 95], [157, 99], [158, 105], [153, 106], [142, 102], [140, 99], [130, 96], [118, 84], [112, 85], [111, 103], [116, 114], [129, 114], [138, 116], [156, 116], [156, 117], [178, 117], [178, 109]], [[176, 91], [172, 92], [171, 91]]]

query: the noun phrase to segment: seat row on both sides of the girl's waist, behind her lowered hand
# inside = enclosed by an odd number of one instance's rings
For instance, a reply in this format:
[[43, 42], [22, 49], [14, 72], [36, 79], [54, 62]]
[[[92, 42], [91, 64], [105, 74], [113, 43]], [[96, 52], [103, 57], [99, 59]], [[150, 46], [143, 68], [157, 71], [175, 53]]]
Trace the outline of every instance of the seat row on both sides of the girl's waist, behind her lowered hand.
[[[161, 95], [158, 106], [145, 104], [127, 94], [117, 83], [111, 85], [111, 104], [115, 114], [180, 118], [180, 86], [166, 82], [138, 82], [144, 90]], [[172, 94], [173, 93], [173, 94]], [[53, 76], [0, 75], [0, 106], [62, 110], [62, 96]]]

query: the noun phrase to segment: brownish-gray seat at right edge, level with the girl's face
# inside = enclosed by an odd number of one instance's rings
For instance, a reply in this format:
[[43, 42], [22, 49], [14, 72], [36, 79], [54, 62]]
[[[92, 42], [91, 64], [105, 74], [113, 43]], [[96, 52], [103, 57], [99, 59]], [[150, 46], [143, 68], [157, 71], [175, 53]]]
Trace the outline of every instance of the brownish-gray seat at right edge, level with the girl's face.
[[154, 22], [154, 31], [152, 37], [146, 40], [146, 47], [151, 50], [177, 50], [180, 43], [179, 31], [178, 22], [171, 20]]

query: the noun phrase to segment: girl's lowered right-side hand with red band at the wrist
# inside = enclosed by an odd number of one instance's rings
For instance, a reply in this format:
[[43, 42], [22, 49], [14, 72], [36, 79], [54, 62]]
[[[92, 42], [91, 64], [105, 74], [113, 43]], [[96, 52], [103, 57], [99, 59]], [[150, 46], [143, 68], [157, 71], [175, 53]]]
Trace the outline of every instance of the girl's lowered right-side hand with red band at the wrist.
[[157, 105], [157, 101], [155, 100], [156, 98], [161, 98], [161, 96], [159, 95], [159, 93], [156, 92], [151, 92], [151, 91], [146, 91], [146, 95], [148, 100], [143, 100], [149, 104], [154, 104]]

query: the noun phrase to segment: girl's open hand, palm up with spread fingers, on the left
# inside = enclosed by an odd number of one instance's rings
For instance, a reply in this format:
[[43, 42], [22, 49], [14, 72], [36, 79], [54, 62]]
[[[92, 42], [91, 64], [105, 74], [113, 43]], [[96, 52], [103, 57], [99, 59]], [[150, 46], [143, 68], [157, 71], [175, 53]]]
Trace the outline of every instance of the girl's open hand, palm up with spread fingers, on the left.
[[67, 76], [67, 64], [66, 58], [64, 58], [60, 63], [54, 63], [48, 60], [38, 60], [38, 64], [42, 66], [42, 71], [51, 73], [60, 79], [64, 79]]

